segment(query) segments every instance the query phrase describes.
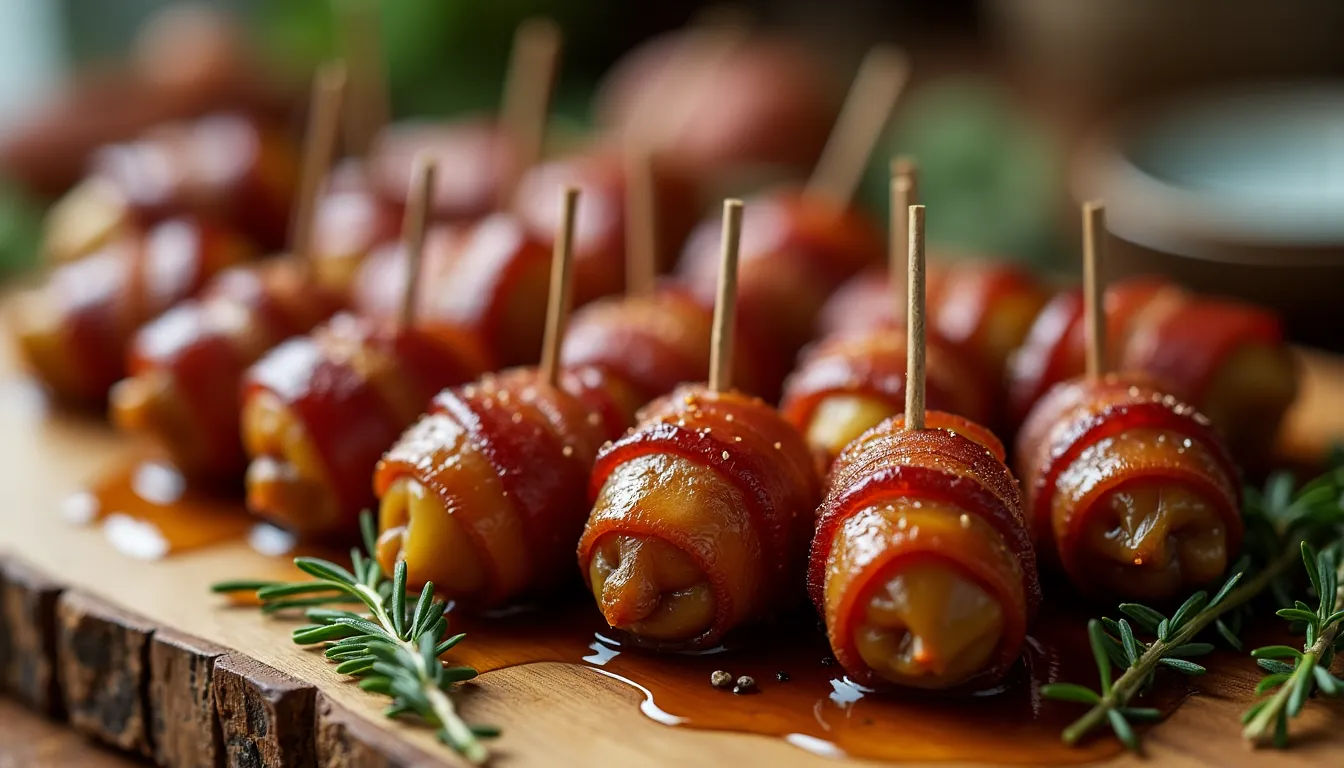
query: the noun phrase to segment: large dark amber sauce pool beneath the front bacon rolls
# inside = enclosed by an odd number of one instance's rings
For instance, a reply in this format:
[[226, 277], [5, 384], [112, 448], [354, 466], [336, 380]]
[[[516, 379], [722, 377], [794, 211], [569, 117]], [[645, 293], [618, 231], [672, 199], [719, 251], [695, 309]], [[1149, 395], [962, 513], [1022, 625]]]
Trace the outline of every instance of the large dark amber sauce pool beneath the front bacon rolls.
[[[774, 736], [827, 757], [1077, 764], [1121, 749], [1113, 738], [1064, 745], [1059, 732], [1081, 709], [1040, 697], [1047, 682], [1095, 678], [1085, 624], [1081, 615], [1046, 612], [1000, 687], [957, 697], [876, 693], [849, 682], [806, 616], [739, 638], [735, 650], [700, 655], [628, 648], [589, 604], [460, 616], [450, 631], [468, 640], [449, 660], [481, 673], [534, 662], [587, 667], [640, 690], [641, 712], [665, 725]], [[754, 678], [755, 693], [712, 687], [715, 670]], [[1171, 710], [1185, 695], [1179, 686], [1163, 690], [1145, 706]]]

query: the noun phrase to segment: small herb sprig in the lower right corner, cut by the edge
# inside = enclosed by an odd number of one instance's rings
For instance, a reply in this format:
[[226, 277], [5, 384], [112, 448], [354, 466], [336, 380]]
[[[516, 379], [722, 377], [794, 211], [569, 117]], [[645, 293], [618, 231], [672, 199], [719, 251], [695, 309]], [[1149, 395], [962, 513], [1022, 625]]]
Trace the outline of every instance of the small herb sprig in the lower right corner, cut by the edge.
[[[1302, 710], [1313, 690], [1337, 697], [1344, 693], [1344, 681], [1331, 674], [1335, 654], [1344, 647], [1340, 627], [1344, 624], [1344, 562], [1339, 546], [1317, 553], [1302, 542], [1302, 564], [1306, 577], [1318, 597], [1317, 607], [1296, 601], [1293, 608], [1282, 608], [1278, 615], [1306, 628], [1302, 650], [1289, 646], [1266, 646], [1251, 651], [1251, 656], [1269, 674], [1255, 686], [1257, 695], [1274, 690], [1242, 716], [1246, 728], [1242, 736], [1255, 745], [1288, 746], [1288, 721]], [[1285, 660], [1286, 659], [1286, 660]], [[1275, 690], [1277, 689], [1277, 690]]]

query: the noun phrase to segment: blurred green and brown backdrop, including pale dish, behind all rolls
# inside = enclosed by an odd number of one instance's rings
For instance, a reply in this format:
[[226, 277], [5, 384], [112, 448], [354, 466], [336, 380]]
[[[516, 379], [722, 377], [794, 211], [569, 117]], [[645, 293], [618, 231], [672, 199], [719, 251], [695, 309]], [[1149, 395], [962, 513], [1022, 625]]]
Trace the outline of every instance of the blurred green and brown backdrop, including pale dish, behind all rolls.
[[[884, 210], [887, 163], [911, 153], [935, 245], [1067, 272], [1077, 204], [1101, 195], [1117, 272], [1274, 305], [1294, 335], [1341, 344], [1320, 324], [1341, 319], [1344, 285], [1344, 3], [382, 0], [380, 13], [395, 118], [496, 110], [515, 28], [552, 17], [555, 145], [602, 126], [630, 51], [714, 15], [805, 51], [835, 104], [871, 44], [898, 43], [913, 78], [863, 204]], [[237, 101], [298, 125], [340, 38], [331, 0], [0, 3], [0, 272], [39, 261], [44, 208], [95, 147]]]

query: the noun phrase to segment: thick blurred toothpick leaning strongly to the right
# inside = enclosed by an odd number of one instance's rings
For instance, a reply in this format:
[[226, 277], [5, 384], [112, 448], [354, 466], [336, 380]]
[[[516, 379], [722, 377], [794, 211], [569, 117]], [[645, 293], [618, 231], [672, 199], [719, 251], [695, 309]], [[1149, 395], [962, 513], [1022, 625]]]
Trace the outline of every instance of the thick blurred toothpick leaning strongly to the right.
[[868, 51], [808, 179], [809, 198], [829, 200], [836, 207], [849, 204], [909, 75], [910, 63], [899, 48], [876, 46]]

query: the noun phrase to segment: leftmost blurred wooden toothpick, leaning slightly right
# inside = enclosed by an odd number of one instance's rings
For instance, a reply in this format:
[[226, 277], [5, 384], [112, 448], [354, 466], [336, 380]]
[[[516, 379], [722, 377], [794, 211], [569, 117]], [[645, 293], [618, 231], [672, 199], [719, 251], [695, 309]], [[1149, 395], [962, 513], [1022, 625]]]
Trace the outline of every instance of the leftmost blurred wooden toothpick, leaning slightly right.
[[289, 221], [289, 250], [300, 264], [309, 265], [313, 257], [313, 214], [317, 192], [327, 179], [327, 171], [336, 149], [336, 126], [340, 117], [341, 94], [345, 90], [345, 66], [328, 62], [317, 69], [313, 78], [312, 105], [304, 136], [304, 159], [298, 176], [298, 199], [294, 200]]

